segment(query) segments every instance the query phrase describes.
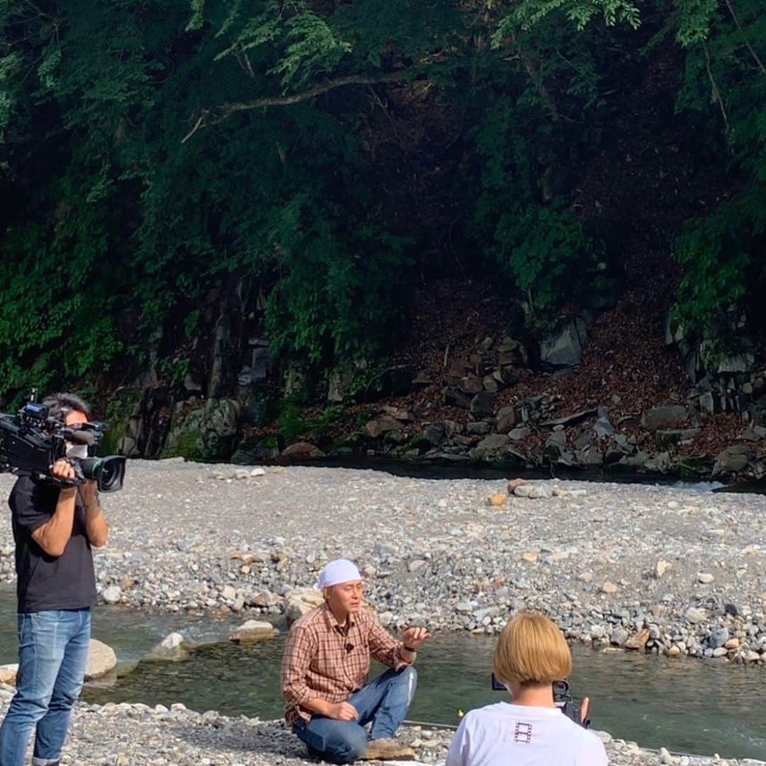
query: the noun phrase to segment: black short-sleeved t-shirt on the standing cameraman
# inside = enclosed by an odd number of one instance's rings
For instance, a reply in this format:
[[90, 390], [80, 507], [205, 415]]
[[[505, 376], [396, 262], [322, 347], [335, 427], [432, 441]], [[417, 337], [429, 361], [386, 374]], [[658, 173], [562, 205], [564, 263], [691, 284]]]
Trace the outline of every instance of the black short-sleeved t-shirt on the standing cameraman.
[[11, 490], [13, 537], [16, 541], [18, 611], [83, 609], [96, 600], [93, 555], [85, 530], [85, 506], [75, 499], [72, 536], [61, 556], [48, 555], [32, 532], [53, 516], [59, 489], [21, 476]]

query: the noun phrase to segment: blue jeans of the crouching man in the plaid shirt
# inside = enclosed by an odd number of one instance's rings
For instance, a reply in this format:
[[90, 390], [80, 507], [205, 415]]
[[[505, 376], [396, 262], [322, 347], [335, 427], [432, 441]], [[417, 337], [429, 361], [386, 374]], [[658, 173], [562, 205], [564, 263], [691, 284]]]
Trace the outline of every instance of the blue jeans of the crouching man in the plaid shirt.
[[308, 723], [298, 719], [293, 724], [293, 732], [325, 761], [349, 764], [367, 749], [368, 736], [362, 728], [365, 724], [372, 721], [370, 739], [394, 736], [407, 715], [415, 686], [417, 671], [414, 667], [387, 670], [347, 700], [359, 713], [356, 722], [312, 715]]

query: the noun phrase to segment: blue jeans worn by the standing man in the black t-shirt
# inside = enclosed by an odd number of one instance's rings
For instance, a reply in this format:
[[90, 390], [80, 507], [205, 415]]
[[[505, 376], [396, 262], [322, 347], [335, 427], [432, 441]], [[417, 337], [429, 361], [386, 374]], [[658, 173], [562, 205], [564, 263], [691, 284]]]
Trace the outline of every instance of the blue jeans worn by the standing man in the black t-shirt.
[[16, 693], [0, 726], [2, 766], [22, 766], [33, 728], [32, 766], [58, 763], [89, 643], [88, 609], [18, 615]]

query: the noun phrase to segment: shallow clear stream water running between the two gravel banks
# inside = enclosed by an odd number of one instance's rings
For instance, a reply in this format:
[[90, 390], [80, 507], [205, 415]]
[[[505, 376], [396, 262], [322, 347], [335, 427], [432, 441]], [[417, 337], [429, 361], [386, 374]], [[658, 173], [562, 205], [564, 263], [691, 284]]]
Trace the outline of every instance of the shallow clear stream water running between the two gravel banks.
[[[15, 661], [15, 598], [0, 591], [0, 663]], [[116, 650], [119, 678], [88, 686], [90, 702], [183, 702], [204, 712], [278, 718], [283, 637], [250, 646], [228, 643], [230, 621], [145, 614], [99, 607], [93, 635]], [[183, 663], [136, 661], [172, 630], [191, 643], [208, 643]], [[494, 640], [438, 634], [417, 662], [419, 682], [409, 718], [457, 724], [458, 711], [502, 694], [489, 687]], [[575, 697], [591, 696], [595, 728], [640, 745], [730, 758], [766, 758], [766, 672], [721, 661], [669, 660], [637, 653], [573, 647]]]

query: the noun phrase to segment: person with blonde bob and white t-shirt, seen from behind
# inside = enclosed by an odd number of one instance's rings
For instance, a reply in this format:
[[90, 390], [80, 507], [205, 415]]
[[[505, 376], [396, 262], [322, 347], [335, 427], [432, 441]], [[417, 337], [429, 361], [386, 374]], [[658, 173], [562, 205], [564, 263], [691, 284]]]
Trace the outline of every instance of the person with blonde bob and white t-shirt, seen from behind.
[[[497, 642], [494, 671], [511, 702], [472, 710], [457, 728], [445, 766], [607, 766], [601, 739], [554, 704], [553, 682], [572, 666], [556, 624], [535, 612], [517, 614]], [[588, 699], [582, 715], [588, 715]]]

